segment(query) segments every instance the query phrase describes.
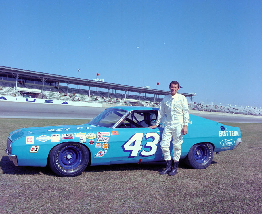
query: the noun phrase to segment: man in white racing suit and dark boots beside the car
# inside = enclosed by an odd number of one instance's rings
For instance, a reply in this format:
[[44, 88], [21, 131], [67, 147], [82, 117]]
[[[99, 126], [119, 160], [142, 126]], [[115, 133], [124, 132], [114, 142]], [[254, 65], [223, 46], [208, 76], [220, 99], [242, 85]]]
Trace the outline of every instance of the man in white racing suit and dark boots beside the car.
[[[159, 174], [175, 175], [177, 173], [177, 166], [181, 155], [181, 144], [183, 142], [183, 135], [187, 134], [189, 123], [188, 102], [184, 95], [178, 94], [180, 85], [177, 81], [172, 81], [169, 84], [170, 94], [166, 95], [158, 110], [158, 117], [156, 125], [150, 126], [151, 129], [158, 127], [161, 120], [167, 116], [160, 142], [163, 152], [164, 160], [166, 161], [166, 169]], [[170, 141], [173, 137], [173, 162], [170, 156]]]

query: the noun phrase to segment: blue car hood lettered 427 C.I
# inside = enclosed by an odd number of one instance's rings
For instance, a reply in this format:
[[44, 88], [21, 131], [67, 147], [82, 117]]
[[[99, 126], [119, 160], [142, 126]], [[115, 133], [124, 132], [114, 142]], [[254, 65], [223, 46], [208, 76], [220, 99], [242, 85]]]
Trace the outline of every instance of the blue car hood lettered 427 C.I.
[[[21, 137], [28, 137], [34, 135], [50, 135], [53, 133], [65, 133], [65, 132], [95, 132], [97, 126], [83, 124], [83, 125], [61, 125], [61, 126], [44, 126], [44, 127], [30, 127], [30, 128], [22, 128], [17, 129], [9, 133], [8, 138], [11, 141], [17, 140]], [[94, 130], [95, 129], [95, 130]]]

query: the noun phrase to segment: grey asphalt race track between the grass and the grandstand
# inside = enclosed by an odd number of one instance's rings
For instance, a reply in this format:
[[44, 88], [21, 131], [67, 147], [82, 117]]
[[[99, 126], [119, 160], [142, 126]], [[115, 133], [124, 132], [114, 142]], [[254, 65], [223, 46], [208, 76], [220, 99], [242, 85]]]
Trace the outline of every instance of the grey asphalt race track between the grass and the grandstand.
[[[105, 108], [0, 101], [0, 118], [92, 119]], [[194, 114], [217, 122], [262, 123], [261, 118]]]

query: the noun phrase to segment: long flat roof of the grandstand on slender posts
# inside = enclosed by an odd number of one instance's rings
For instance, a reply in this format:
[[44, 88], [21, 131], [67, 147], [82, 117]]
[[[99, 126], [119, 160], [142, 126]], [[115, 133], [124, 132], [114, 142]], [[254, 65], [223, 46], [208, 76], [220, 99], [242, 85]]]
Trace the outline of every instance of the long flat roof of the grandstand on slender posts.
[[[10, 68], [10, 67], [5, 67], [5, 66], [0, 66], [0, 74], [7, 74], [7, 75], [12, 74], [14, 75], [14, 77], [18, 77], [18, 78], [34, 78], [34, 79], [40, 79], [41, 81], [48, 80], [48, 81], [53, 81], [53, 82], [66, 83], [66, 84], [113, 89], [113, 90], [118, 90], [118, 91], [147, 93], [147, 94], [153, 94], [153, 95], [167, 95], [170, 93], [170, 91], [163, 91], [163, 90], [158, 90], [158, 89], [134, 87], [134, 86], [129, 86], [129, 85], [100, 82], [100, 81], [81, 79], [81, 78], [75, 78], [75, 77], [66, 77], [66, 76], [61, 76], [57, 74], [48, 74], [48, 73], [23, 70], [23, 69], [18, 69], [18, 68]], [[191, 94], [191, 93], [180, 93], [180, 94], [186, 97], [190, 97], [191, 99], [192, 97], [196, 96], [196, 94]]]

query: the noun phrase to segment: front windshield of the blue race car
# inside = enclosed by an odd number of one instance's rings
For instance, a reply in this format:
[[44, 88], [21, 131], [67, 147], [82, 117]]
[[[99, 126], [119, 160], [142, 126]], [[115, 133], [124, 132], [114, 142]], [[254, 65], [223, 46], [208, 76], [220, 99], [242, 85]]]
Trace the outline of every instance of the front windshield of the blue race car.
[[98, 114], [94, 119], [89, 121], [87, 124], [112, 127], [125, 113], [126, 111], [124, 110], [106, 109]]

